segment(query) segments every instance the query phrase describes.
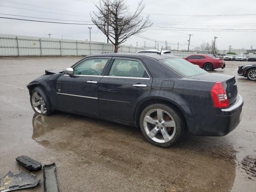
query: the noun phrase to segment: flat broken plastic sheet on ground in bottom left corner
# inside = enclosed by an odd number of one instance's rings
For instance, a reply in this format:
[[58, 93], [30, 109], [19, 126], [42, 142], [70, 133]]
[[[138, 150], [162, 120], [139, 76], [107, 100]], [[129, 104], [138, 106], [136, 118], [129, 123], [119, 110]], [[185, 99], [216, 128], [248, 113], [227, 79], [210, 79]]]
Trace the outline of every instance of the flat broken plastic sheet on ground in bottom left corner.
[[8, 192], [18, 189], [25, 189], [37, 186], [40, 180], [33, 174], [20, 172], [14, 174], [9, 171], [5, 176], [0, 178], [0, 192]]

